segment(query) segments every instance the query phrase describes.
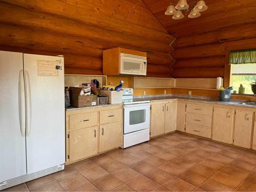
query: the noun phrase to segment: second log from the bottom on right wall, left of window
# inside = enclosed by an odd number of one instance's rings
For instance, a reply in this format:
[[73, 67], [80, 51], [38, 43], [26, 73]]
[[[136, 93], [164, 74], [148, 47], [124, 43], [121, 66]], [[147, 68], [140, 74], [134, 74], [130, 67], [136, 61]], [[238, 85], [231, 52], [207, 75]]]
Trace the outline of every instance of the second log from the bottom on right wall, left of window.
[[194, 67], [224, 67], [225, 56], [205, 57], [195, 59], [182, 59], [175, 61], [173, 69], [194, 68]]

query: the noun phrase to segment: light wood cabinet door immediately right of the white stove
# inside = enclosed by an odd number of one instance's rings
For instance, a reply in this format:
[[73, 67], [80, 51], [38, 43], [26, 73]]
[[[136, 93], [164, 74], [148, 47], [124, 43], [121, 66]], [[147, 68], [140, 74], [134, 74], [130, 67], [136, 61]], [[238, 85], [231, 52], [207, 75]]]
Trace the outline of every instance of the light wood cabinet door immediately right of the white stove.
[[151, 137], [164, 134], [165, 104], [151, 105]]

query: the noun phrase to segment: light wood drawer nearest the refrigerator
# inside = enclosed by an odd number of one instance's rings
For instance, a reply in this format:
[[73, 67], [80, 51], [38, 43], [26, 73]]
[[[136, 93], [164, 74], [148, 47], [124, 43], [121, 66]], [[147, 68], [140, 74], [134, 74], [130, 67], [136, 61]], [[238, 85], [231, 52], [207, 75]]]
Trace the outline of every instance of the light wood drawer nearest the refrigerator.
[[82, 113], [69, 116], [69, 129], [80, 129], [98, 125], [98, 112]]

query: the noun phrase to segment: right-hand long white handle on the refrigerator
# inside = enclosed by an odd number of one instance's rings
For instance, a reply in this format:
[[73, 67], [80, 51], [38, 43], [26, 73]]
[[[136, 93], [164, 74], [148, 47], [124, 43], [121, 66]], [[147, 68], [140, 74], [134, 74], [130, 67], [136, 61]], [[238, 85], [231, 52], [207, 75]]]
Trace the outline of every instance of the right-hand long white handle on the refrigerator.
[[27, 98], [26, 136], [28, 137], [31, 131], [31, 93], [30, 93], [29, 73], [27, 71], [25, 71], [25, 80], [26, 80], [26, 98]]

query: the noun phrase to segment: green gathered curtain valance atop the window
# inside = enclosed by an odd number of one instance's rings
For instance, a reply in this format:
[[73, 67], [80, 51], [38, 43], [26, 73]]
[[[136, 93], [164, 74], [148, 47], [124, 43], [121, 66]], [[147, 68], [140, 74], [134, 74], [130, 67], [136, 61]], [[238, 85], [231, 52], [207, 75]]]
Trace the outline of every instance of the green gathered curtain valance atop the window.
[[256, 49], [231, 51], [229, 55], [230, 64], [256, 63]]

